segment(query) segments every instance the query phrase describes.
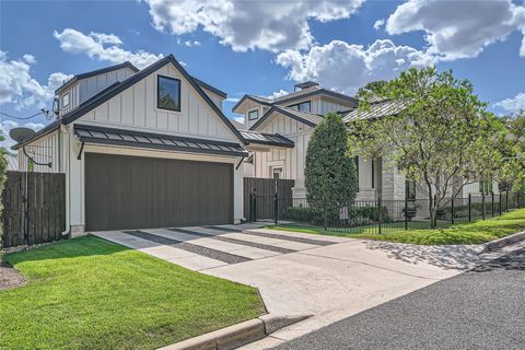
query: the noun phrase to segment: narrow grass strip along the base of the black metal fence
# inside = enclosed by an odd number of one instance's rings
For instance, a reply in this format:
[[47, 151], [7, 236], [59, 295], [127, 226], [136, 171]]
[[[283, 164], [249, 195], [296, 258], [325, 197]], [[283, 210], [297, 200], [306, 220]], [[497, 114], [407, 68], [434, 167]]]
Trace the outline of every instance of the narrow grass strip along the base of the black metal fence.
[[399, 228], [389, 228], [383, 234], [376, 233], [377, 229], [362, 228], [359, 232], [348, 233], [340, 231], [325, 231], [323, 228], [300, 226], [270, 226], [273, 230], [304, 232], [322, 235], [336, 235], [350, 238], [366, 238], [376, 241], [389, 241], [421, 245], [444, 244], [481, 244], [495, 238], [525, 230], [525, 209], [506, 213], [502, 217], [472, 223], [458, 223], [436, 230], [421, 229], [424, 223], [411, 223], [408, 231], [404, 230], [404, 223]]

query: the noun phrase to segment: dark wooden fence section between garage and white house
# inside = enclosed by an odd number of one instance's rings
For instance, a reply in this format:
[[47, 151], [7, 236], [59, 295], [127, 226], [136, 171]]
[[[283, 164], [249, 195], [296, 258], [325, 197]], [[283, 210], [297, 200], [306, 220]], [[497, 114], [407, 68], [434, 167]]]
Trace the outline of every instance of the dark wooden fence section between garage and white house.
[[244, 178], [244, 218], [249, 221], [273, 220], [276, 194], [283, 200], [292, 201], [293, 179], [273, 179], [259, 177]]

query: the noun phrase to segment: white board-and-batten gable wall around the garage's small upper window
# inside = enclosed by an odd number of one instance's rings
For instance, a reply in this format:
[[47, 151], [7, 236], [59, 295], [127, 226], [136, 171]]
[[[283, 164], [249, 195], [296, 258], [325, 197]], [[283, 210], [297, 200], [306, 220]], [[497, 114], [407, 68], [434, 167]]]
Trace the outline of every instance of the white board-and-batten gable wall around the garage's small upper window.
[[[180, 80], [180, 112], [156, 107], [158, 75]], [[171, 63], [89, 112], [77, 122], [238, 142], [224, 121]]]

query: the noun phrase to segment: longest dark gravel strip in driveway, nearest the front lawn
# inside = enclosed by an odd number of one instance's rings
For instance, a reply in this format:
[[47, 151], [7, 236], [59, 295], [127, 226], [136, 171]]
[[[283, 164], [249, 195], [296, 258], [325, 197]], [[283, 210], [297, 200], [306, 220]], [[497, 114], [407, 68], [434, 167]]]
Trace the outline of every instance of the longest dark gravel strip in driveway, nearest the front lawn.
[[245, 262], [245, 261], [252, 260], [244, 256], [233, 255], [230, 253], [207, 248], [200, 245], [190, 244], [190, 243], [186, 243], [186, 242], [182, 242], [173, 238], [166, 238], [166, 237], [159, 236], [156, 234], [152, 234], [144, 231], [136, 230], [136, 231], [122, 231], [122, 232], [142, 240], [148, 240], [159, 244], [168, 245], [178, 249], [183, 249], [189, 253], [195, 253], [195, 254], [206, 256], [211, 259], [220, 260], [226, 264], [237, 264], [237, 262]]

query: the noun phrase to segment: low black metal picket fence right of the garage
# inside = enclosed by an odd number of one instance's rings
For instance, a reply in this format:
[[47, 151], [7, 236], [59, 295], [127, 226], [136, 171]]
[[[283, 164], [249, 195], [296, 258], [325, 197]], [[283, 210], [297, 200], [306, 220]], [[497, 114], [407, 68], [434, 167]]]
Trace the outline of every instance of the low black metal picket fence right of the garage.
[[[392, 233], [430, 226], [429, 201], [374, 200], [354, 201], [340, 206], [328, 218], [312, 210], [306, 198], [259, 196], [250, 194], [252, 221], [278, 225], [326, 229], [345, 233]], [[436, 224], [446, 228], [459, 222], [486, 220], [510, 210], [525, 207], [525, 194], [470, 194], [465, 198], [450, 198], [438, 208]]]

